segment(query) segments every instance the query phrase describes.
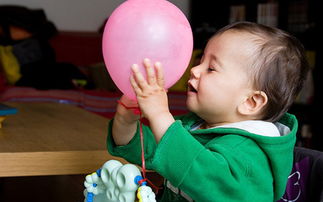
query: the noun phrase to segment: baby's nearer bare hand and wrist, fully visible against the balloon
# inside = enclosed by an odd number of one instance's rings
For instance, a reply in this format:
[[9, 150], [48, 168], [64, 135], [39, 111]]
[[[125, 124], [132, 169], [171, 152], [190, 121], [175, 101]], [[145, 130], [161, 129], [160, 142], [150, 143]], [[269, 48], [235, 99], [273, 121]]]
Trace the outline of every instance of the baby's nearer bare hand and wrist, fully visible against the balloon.
[[148, 119], [156, 142], [159, 143], [175, 120], [168, 107], [161, 63], [156, 62], [153, 66], [149, 59], [144, 59], [144, 66], [147, 78], [140, 72], [138, 65], [133, 65], [133, 75], [130, 77], [130, 81], [136, 93], [141, 113]]

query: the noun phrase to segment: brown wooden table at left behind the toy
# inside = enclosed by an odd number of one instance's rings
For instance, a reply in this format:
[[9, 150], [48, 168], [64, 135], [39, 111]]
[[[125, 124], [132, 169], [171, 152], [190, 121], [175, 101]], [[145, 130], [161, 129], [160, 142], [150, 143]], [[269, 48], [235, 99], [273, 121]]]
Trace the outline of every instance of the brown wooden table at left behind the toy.
[[0, 128], [0, 177], [86, 174], [110, 159], [108, 119], [59, 103], [5, 103], [18, 113]]

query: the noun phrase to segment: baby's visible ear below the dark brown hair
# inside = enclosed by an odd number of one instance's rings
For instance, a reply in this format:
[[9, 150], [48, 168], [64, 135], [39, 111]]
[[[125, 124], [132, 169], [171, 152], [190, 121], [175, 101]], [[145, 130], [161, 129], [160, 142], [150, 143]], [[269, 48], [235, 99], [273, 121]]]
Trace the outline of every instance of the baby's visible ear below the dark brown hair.
[[257, 116], [267, 104], [268, 98], [263, 91], [254, 91], [239, 106], [238, 112], [244, 116]]

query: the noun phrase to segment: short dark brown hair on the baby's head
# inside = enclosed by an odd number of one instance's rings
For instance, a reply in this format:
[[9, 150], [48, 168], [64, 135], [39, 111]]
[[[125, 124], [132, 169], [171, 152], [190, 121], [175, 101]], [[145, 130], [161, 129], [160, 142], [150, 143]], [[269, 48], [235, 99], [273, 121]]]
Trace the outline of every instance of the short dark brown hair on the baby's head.
[[250, 68], [253, 86], [268, 97], [262, 120], [277, 121], [293, 104], [308, 73], [303, 45], [285, 31], [252, 22], [227, 25], [216, 35], [229, 30], [255, 36], [255, 59]]

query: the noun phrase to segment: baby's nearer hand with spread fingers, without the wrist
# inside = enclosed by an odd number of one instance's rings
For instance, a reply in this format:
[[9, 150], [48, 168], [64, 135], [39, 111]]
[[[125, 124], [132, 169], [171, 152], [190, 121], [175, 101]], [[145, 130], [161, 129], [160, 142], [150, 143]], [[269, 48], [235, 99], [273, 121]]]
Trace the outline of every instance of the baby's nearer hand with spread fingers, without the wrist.
[[141, 74], [138, 65], [132, 66], [131, 85], [136, 93], [142, 114], [148, 120], [169, 113], [167, 91], [164, 88], [164, 74], [159, 62], [152, 66], [149, 59], [144, 60], [147, 79]]

